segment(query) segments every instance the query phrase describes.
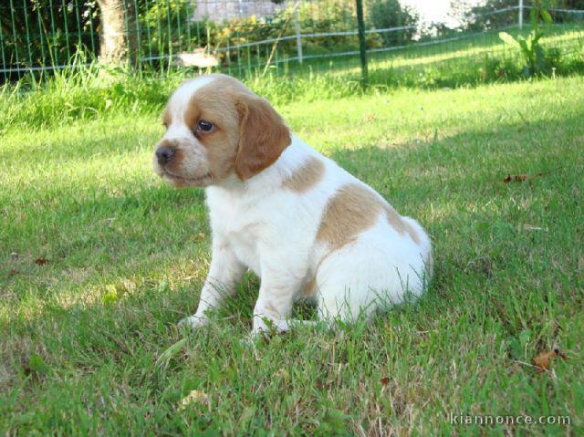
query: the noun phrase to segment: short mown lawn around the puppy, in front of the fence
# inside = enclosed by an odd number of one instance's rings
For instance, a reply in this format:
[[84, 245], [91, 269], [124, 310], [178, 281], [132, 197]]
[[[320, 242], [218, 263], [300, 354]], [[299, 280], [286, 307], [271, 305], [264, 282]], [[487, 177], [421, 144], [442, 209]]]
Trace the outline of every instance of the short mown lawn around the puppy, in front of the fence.
[[[280, 106], [419, 218], [435, 277], [370, 324], [254, 347], [251, 275], [211, 327], [175, 327], [197, 305], [210, 234], [203, 191], [151, 172], [158, 114], [6, 130], [0, 434], [581, 434], [582, 89], [558, 78]], [[567, 360], [537, 373], [531, 359], [554, 347]], [[465, 426], [451, 412], [571, 424]]]

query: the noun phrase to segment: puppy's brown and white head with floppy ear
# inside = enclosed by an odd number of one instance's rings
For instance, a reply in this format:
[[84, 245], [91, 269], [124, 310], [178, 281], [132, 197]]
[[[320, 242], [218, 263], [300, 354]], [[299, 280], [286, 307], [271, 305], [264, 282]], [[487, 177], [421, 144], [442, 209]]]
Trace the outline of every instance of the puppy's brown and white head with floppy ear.
[[162, 115], [154, 172], [175, 186], [207, 186], [235, 174], [249, 179], [290, 144], [276, 110], [235, 80], [202, 76], [183, 83]]

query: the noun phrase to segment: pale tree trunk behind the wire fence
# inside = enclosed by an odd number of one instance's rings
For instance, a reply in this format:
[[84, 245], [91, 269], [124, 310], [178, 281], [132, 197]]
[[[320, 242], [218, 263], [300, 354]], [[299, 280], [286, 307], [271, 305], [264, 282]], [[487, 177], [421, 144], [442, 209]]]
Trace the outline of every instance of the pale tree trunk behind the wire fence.
[[[136, 63], [136, 22], [132, 2], [98, 0], [101, 12], [101, 44], [99, 60], [107, 64]], [[127, 14], [127, 16], [126, 16]]]

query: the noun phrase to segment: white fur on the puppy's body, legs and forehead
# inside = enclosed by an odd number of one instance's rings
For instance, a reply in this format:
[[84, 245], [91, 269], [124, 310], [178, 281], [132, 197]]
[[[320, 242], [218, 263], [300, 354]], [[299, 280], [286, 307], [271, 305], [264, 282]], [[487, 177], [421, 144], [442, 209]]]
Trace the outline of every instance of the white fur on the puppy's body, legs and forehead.
[[[173, 104], [188, 101], [200, 86], [195, 80], [179, 88], [176, 99], [180, 101]], [[178, 134], [186, 128], [173, 125], [171, 129]], [[308, 157], [324, 164], [321, 180], [307, 192], [283, 187], [287, 177]], [[235, 283], [246, 269], [261, 278], [254, 332], [271, 324], [286, 329], [294, 301], [313, 277], [318, 315], [326, 320], [350, 319], [361, 312], [370, 315], [384, 302], [400, 302], [408, 293], [420, 295], [428, 279], [425, 272], [431, 243], [414, 220], [403, 217], [419, 234], [420, 245], [410, 234], [393, 229], [385, 214], [380, 214], [356, 241], [339, 250], [330, 252], [318, 243], [322, 214], [335, 193], [348, 183], [359, 183], [373, 191], [292, 135], [292, 143], [265, 171], [246, 181], [233, 174], [207, 187], [213, 258], [199, 307], [183, 323], [194, 328], [206, 323], [207, 310], [218, 307], [224, 296], [234, 293]]]

